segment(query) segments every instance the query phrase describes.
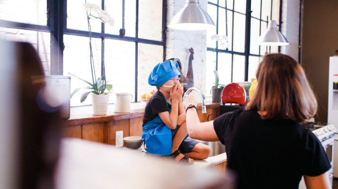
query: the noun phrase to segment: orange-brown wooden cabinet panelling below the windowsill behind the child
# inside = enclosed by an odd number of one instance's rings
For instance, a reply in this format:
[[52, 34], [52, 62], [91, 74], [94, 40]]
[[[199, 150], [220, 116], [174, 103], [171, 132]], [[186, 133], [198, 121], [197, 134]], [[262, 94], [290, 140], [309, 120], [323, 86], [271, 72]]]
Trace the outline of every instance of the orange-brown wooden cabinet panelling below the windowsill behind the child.
[[[197, 109], [201, 122], [213, 120], [219, 116], [219, 103], [207, 104], [207, 113], [205, 114], [202, 113], [201, 106], [198, 106]], [[80, 108], [77, 107], [77, 110]], [[76, 115], [76, 118], [71, 117], [62, 127], [63, 137], [81, 138], [115, 145], [116, 131], [122, 130], [123, 137], [142, 135], [143, 114], [144, 109], [105, 116], [93, 116], [88, 113], [84, 117]]]

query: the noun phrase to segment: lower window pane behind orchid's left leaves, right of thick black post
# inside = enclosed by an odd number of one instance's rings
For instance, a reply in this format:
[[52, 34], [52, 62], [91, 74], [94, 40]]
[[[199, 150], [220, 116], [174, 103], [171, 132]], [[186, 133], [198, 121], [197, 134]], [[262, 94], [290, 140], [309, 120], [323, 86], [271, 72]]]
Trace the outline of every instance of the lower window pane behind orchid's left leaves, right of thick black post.
[[[89, 38], [75, 35], [64, 35], [64, 75], [69, 76], [72, 73], [85, 81], [92, 83], [90, 69]], [[101, 39], [92, 38], [91, 45], [93, 50], [94, 66], [96, 78], [100, 77], [101, 70]], [[76, 55], [76, 56], [75, 56]], [[107, 65], [106, 65], [107, 67]], [[107, 68], [106, 68], [107, 69]], [[108, 74], [107, 78], [108, 78]], [[108, 79], [107, 79], [108, 80]], [[77, 88], [85, 88], [88, 85], [83, 81], [72, 76], [71, 92]], [[91, 95], [88, 95], [84, 102], [80, 102], [81, 95], [88, 90], [80, 90], [71, 98], [71, 106], [91, 104]]]

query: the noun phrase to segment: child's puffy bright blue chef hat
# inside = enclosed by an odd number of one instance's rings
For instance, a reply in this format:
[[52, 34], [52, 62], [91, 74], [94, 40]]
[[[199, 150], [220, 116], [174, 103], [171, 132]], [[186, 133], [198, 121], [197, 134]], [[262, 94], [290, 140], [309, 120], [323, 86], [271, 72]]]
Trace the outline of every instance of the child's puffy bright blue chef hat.
[[150, 73], [148, 83], [151, 86], [160, 87], [168, 80], [174, 77], [180, 77], [179, 66], [177, 62], [168, 60], [157, 64]]

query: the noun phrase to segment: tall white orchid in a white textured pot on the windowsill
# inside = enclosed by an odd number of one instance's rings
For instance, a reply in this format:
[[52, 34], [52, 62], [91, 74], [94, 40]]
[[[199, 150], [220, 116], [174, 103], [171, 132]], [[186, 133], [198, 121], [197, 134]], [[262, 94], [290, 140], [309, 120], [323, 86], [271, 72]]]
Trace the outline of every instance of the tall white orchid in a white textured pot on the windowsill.
[[[99, 5], [92, 4], [92, 3], [85, 3], [84, 4], [85, 10], [87, 11], [87, 24], [88, 24], [88, 32], [89, 32], [89, 50], [90, 50], [90, 69], [91, 69], [91, 82], [87, 82], [84, 79], [81, 79], [74, 74], [69, 73], [70, 75], [84, 81], [86, 84], [88, 84], [88, 87], [86, 88], [78, 88], [76, 89], [71, 97], [77, 93], [81, 89], [87, 89], [90, 90], [88, 92], [85, 92], [81, 98], [80, 101], [83, 102], [87, 96], [91, 93], [92, 94], [92, 107], [93, 107], [93, 114], [94, 115], [105, 115], [107, 114], [107, 108], [108, 108], [108, 101], [109, 101], [109, 93], [112, 90], [112, 85], [107, 84], [106, 77], [105, 77], [105, 69], [104, 69], [104, 62], [103, 59], [101, 60], [101, 70], [100, 70], [100, 77], [96, 77], [95, 73], [95, 67], [94, 67], [94, 58], [93, 58], [93, 52], [91, 48], [91, 26], [89, 19], [95, 18], [100, 20], [101, 22], [106, 23], [108, 22], [109, 25], [114, 25], [114, 20], [111, 18], [111, 16], [106, 12], [105, 10], [102, 10]], [[103, 26], [104, 28], [104, 26]], [[103, 29], [104, 33], [104, 29]], [[103, 42], [102, 42], [103, 44]], [[103, 49], [103, 48], [102, 48]]]

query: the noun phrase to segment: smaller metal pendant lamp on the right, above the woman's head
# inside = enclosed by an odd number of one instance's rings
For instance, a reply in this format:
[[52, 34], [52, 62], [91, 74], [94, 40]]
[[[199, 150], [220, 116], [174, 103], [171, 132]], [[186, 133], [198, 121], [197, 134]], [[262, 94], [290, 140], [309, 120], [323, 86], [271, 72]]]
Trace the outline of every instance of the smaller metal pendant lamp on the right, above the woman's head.
[[267, 30], [265, 33], [258, 37], [257, 44], [265, 46], [282, 46], [288, 45], [289, 42], [285, 36], [278, 31], [277, 22], [275, 20], [270, 20], [267, 24]]

